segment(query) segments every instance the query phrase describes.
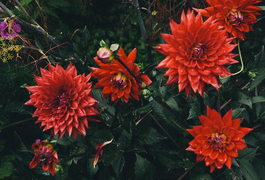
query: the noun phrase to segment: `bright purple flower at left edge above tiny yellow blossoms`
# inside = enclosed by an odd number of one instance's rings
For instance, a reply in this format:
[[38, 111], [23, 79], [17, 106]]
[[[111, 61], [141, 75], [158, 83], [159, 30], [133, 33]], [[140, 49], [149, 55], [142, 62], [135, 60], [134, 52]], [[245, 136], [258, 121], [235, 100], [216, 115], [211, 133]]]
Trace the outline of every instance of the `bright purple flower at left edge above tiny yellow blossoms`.
[[[9, 21], [11, 22], [11, 21]], [[12, 39], [17, 37], [17, 33], [21, 31], [21, 27], [19, 24], [16, 23], [16, 21], [13, 21], [12, 23], [9, 23], [9, 26], [7, 27], [7, 23], [5, 21], [1, 22], [0, 24], [0, 31], [1, 36], [5, 39]], [[10, 31], [10, 32], [9, 32]]]

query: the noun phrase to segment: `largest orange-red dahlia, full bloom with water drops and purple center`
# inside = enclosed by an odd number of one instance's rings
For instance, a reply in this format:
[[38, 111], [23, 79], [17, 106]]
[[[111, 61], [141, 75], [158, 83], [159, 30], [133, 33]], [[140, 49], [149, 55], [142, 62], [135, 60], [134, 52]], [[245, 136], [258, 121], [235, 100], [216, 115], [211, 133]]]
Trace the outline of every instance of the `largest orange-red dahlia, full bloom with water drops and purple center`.
[[224, 65], [238, 61], [231, 51], [236, 45], [229, 44], [233, 38], [227, 38], [226, 30], [218, 30], [218, 23], [211, 18], [205, 22], [198, 13], [182, 11], [180, 24], [170, 19], [172, 35], [161, 34], [168, 44], [154, 47], [167, 57], [156, 68], [168, 68], [164, 76], [169, 76], [166, 85], [178, 85], [179, 92], [185, 89], [187, 98], [190, 92], [203, 97], [208, 91], [206, 84], [219, 90], [219, 77], [232, 75]]

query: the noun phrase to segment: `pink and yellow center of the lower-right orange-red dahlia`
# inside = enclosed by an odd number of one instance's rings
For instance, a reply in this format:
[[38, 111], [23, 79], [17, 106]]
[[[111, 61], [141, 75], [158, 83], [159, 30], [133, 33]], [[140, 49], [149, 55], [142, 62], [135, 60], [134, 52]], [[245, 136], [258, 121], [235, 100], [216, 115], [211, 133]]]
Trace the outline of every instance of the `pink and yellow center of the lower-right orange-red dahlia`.
[[209, 145], [211, 149], [220, 150], [226, 147], [226, 135], [223, 134], [222, 131], [217, 133], [213, 133], [207, 137], [207, 141], [209, 141]]

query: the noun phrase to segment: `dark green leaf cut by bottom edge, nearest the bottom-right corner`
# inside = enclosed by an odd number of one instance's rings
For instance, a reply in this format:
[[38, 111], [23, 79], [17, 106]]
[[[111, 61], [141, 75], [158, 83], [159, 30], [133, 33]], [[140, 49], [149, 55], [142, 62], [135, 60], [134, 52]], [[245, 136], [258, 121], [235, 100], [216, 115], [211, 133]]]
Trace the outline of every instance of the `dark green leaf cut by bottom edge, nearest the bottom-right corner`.
[[257, 171], [254, 169], [252, 164], [245, 159], [237, 159], [240, 165], [240, 169], [243, 172], [243, 176], [247, 180], [259, 180]]

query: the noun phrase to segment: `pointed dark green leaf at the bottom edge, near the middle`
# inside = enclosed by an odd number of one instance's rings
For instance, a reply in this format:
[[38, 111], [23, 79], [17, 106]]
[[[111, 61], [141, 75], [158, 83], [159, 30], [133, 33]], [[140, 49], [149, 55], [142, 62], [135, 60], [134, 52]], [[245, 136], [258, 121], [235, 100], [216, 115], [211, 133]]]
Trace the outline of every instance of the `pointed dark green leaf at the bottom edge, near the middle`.
[[135, 153], [135, 179], [153, 179], [155, 177], [155, 167], [148, 160]]

